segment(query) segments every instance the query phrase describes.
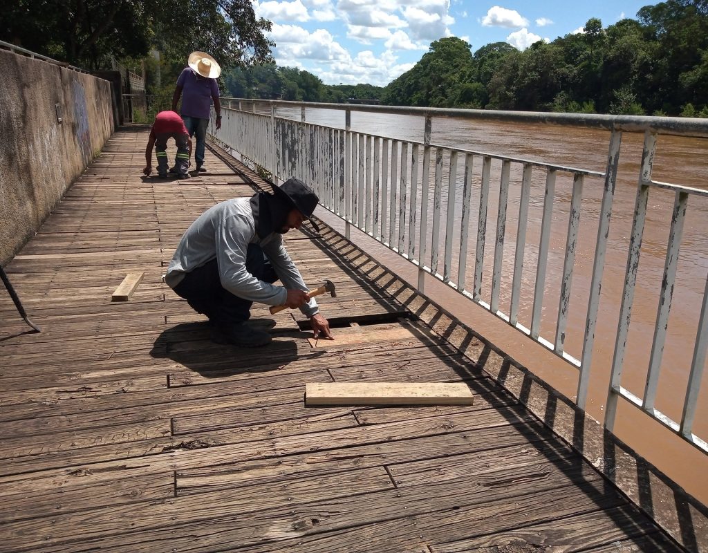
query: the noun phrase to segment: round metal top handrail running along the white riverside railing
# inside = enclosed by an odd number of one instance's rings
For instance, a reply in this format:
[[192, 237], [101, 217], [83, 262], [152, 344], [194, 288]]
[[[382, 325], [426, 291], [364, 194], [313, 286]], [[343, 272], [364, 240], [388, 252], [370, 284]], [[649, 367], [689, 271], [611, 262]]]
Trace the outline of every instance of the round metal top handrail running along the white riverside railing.
[[391, 113], [394, 115], [416, 115], [421, 117], [450, 117], [479, 119], [501, 122], [544, 123], [571, 127], [586, 127], [622, 132], [661, 132], [662, 135], [708, 138], [708, 118], [658, 117], [653, 115], [604, 115], [586, 113], [555, 113], [538, 111], [467, 110], [459, 108], [410, 108], [404, 106], [372, 106], [369, 104], [339, 104], [296, 102], [288, 100], [260, 100], [254, 98], [222, 97], [223, 101], [239, 101], [283, 106], [290, 108], [313, 108], [349, 110], [371, 113]]

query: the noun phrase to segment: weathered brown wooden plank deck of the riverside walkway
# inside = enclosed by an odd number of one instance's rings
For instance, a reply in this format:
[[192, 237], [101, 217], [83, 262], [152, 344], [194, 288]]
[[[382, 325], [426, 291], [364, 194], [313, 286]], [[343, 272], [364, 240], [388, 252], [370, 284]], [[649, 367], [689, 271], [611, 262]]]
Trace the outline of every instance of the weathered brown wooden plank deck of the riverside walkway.
[[[116, 132], [6, 267], [42, 333], [0, 289], [2, 552], [683, 551], [329, 229], [286, 238], [336, 284], [336, 341], [286, 310], [265, 348], [212, 343], [161, 275], [253, 189], [213, 152], [143, 178], [146, 143]], [[474, 404], [306, 407], [307, 382], [465, 382]]]

